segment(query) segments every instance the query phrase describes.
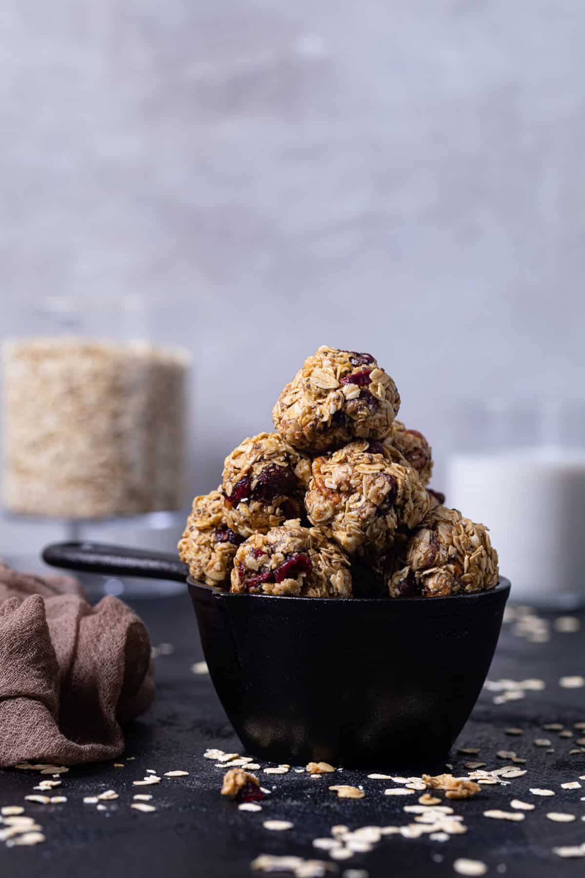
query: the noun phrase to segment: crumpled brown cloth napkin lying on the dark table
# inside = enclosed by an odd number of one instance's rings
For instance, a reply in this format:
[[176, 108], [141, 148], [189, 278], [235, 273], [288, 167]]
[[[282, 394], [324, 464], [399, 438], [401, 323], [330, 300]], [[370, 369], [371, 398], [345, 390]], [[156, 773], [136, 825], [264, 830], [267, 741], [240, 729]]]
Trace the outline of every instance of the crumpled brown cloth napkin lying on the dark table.
[[154, 694], [148, 634], [125, 603], [92, 608], [75, 579], [0, 559], [0, 766], [119, 756], [120, 723]]

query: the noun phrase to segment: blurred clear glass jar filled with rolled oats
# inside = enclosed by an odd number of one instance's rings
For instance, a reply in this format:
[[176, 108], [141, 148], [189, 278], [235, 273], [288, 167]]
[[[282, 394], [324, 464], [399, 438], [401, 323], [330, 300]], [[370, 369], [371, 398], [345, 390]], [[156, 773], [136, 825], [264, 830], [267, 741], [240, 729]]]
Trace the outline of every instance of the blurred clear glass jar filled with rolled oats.
[[[44, 299], [3, 321], [3, 499], [103, 519], [184, 506], [182, 320], [141, 299]], [[175, 332], [176, 335], [176, 332]]]

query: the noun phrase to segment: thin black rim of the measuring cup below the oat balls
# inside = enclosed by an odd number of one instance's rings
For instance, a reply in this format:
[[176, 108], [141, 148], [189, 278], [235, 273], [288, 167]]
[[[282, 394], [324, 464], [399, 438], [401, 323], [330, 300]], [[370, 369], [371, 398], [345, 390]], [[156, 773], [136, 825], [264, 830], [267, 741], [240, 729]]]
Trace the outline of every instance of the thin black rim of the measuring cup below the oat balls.
[[[294, 595], [288, 594], [247, 594], [246, 592], [241, 592], [239, 594], [235, 594], [233, 592], [225, 592], [222, 591], [221, 588], [216, 586], [208, 586], [205, 582], [200, 582], [198, 579], [191, 579], [191, 577], [187, 577], [187, 584], [189, 585], [189, 591], [191, 594], [193, 592], [199, 592], [199, 594], [203, 597], [205, 594], [208, 598], [213, 596], [218, 598], [219, 600], [225, 601], [262, 601], [264, 605], [266, 605], [267, 601], [292, 601], [294, 604], [303, 604], [306, 605], [308, 602], [312, 602], [314, 604], [329, 604], [332, 602], [339, 606], [340, 604], [360, 604], [361, 606], [367, 606], [375, 608], [379, 607], [395, 607], [395, 606], [403, 606], [405, 604], [411, 605], [416, 603], [422, 603], [425, 606], [429, 607], [444, 607], [447, 601], [481, 601], [482, 598], [488, 598], [493, 594], [503, 594], [506, 593], [506, 598], [510, 593], [510, 579], [506, 579], [505, 576], [501, 576], [498, 580], [498, 583], [495, 588], [488, 588], [482, 592], [460, 592], [459, 594], [444, 594], [438, 595], [437, 597], [424, 597], [421, 595], [413, 595], [410, 597], [403, 598], [314, 598], [314, 597], [297, 597]], [[203, 592], [203, 594], [202, 594]]]

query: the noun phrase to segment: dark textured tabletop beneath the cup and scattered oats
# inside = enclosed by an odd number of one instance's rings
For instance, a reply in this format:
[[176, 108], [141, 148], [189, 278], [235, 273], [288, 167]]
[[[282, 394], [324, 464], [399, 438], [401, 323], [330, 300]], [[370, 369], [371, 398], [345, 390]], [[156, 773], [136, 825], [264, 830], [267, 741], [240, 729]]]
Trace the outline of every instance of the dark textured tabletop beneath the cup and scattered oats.
[[[125, 878], [144, 875], [193, 876], [222, 875], [242, 878], [249, 873], [249, 863], [259, 853], [298, 854], [327, 859], [327, 854], [311, 848], [312, 838], [328, 835], [333, 824], [350, 828], [367, 824], [406, 824], [411, 816], [403, 813], [405, 803], [413, 804], [417, 795], [388, 797], [382, 790], [391, 782], [371, 781], [366, 773], [344, 771], [335, 781], [363, 783], [367, 791], [360, 801], [338, 800], [327, 789], [329, 779], [310, 781], [306, 774], [262, 775], [262, 783], [275, 787], [273, 795], [259, 813], [236, 809], [219, 795], [223, 771], [203, 759], [208, 746], [238, 751], [239, 743], [211, 687], [208, 676], [190, 672], [193, 662], [201, 659], [195, 617], [189, 597], [137, 601], [133, 606], [144, 617], [153, 644], [174, 644], [172, 655], [157, 659], [159, 695], [151, 712], [127, 729], [127, 755], [124, 768], [111, 765], [72, 769], [63, 775], [62, 785], [54, 795], [67, 795], [62, 805], [42, 806], [24, 802], [32, 793], [39, 775], [4, 771], [0, 804], [25, 804], [26, 813], [43, 825], [46, 842], [34, 848], [6, 849], [0, 845], [3, 874], [76, 876], [94, 878], [110, 874]], [[581, 621], [585, 622], [581, 615]], [[339, 875], [347, 868], [367, 869], [370, 876], [453, 875], [453, 860], [470, 857], [484, 860], [489, 874], [505, 864], [506, 875], [524, 876], [582, 874], [583, 860], [560, 860], [553, 846], [585, 841], [585, 824], [554, 824], [546, 820], [550, 810], [585, 814], [585, 781], [581, 790], [562, 790], [560, 784], [575, 781], [585, 774], [585, 753], [569, 756], [574, 740], [559, 738], [541, 729], [542, 723], [585, 721], [585, 689], [563, 689], [558, 680], [565, 674], [585, 671], [583, 631], [577, 634], [554, 633], [546, 644], [530, 644], [514, 637], [505, 625], [489, 679], [512, 680], [541, 678], [546, 689], [527, 692], [524, 701], [492, 703], [494, 694], [484, 690], [472, 719], [460, 735], [459, 746], [481, 748], [478, 756], [460, 756], [453, 751], [455, 774], [465, 774], [463, 763], [482, 760], [496, 767], [500, 749], [515, 750], [528, 759], [524, 777], [507, 787], [486, 787], [473, 800], [451, 802], [456, 813], [465, 817], [466, 835], [454, 836], [441, 844], [428, 838], [410, 840], [386, 838], [372, 853], [356, 854], [339, 863]], [[389, 673], [400, 673], [400, 668]], [[504, 734], [508, 726], [524, 729], [522, 738]], [[575, 738], [579, 734], [576, 732]], [[555, 752], [533, 745], [534, 738], [550, 738]], [[166, 779], [153, 787], [135, 788], [132, 781], [141, 779], [147, 768], [159, 774], [172, 769], [189, 771], [189, 777]], [[392, 752], [385, 764], [376, 769], [395, 772]], [[530, 787], [552, 788], [553, 798], [538, 798]], [[114, 788], [120, 797], [107, 803], [107, 810], [96, 811], [84, 805], [82, 797]], [[153, 794], [158, 810], [153, 814], [133, 812], [129, 808], [137, 792]], [[442, 794], [441, 794], [442, 795]], [[492, 808], [510, 810], [512, 798], [534, 802], [536, 810], [527, 813], [522, 823], [504, 823], [482, 817]], [[289, 819], [294, 829], [270, 832], [262, 827], [267, 818]], [[437, 855], [444, 859], [437, 862]]]

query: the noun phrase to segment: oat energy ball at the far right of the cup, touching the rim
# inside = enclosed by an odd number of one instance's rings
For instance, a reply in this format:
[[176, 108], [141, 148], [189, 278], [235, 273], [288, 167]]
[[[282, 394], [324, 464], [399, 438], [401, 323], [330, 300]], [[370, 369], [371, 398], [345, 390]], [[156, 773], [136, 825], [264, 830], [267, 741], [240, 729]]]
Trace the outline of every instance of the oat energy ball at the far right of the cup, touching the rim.
[[497, 552], [488, 529], [458, 509], [431, 509], [396, 552], [389, 575], [390, 597], [434, 597], [481, 592], [498, 581]]

